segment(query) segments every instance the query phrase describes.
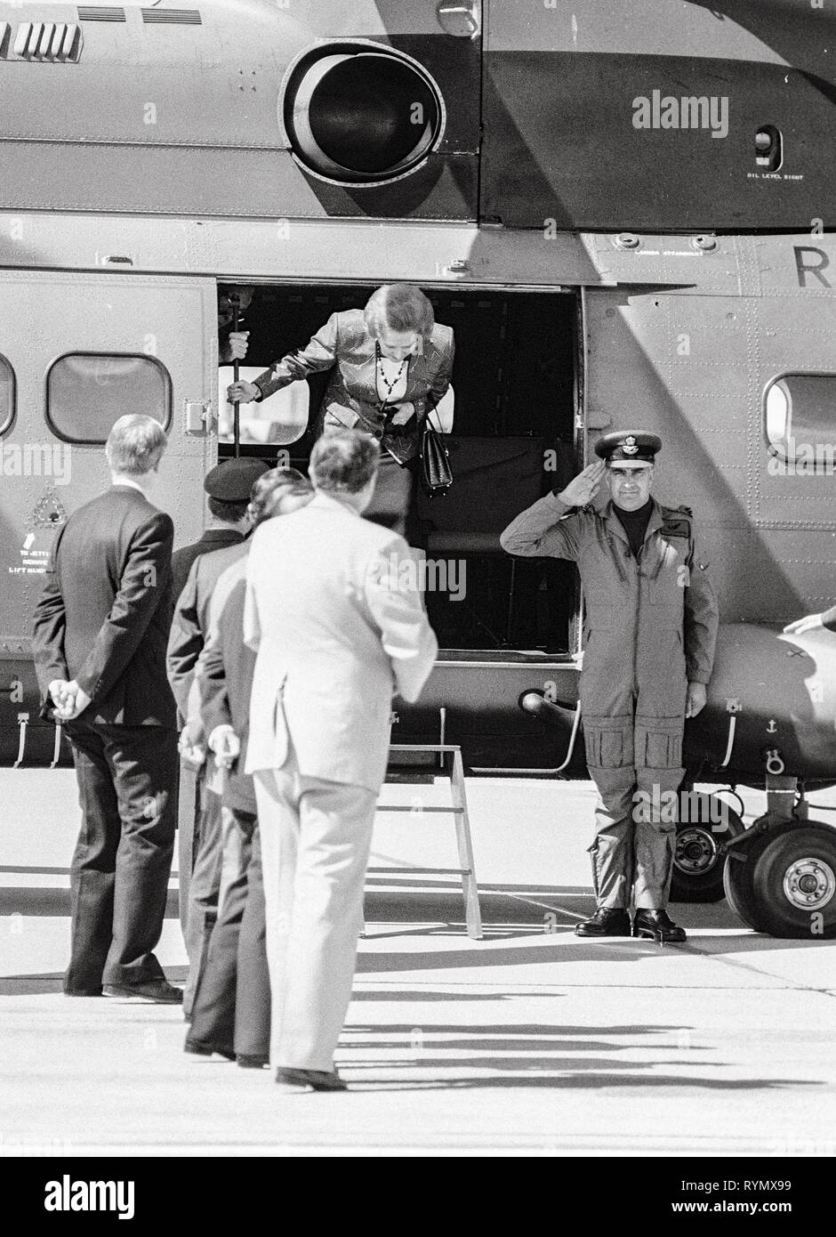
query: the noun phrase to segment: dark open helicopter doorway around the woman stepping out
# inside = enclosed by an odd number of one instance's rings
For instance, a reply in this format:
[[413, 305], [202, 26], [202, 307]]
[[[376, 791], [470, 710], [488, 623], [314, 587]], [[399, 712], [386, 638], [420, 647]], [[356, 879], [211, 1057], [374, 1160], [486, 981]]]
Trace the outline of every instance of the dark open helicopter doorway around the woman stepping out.
[[[239, 329], [249, 332], [242, 379], [252, 380], [338, 310], [362, 307], [373, 285], [246, 288]], [[221, 288], [221, 294], [223, 294]], [[443, 649], [566, 653], [576, 607], [571, 564], [513, 559], [500, 533], [524, 507], [575, 473], [576, 298], [565, 292], [425, 288], [438, 322], [453, 327], [451, 392], [439, 408], [454, 482], [419, 492], [425, 601]], [[221, 301], [223, 303], [223, 301]], [[230, 330], [221, 324], [223, 349]], [[240, 453], [307, 468], [329, 374], [240, 407]], [[232, 409], [219, 369], [220, 455], [232, 448]]]

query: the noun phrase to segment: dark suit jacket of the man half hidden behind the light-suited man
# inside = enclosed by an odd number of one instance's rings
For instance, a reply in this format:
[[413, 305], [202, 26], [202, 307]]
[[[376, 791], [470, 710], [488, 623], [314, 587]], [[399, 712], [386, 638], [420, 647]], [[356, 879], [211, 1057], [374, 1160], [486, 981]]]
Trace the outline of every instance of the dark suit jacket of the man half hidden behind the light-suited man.
[[204, 738], [216, 726], [232, 727], [241, 741], [241, 752], [235, 771], [226, 776], [224, 802], [230, 808], [255, 814], [252, 778], [244, 773], [250, 732], [250, 694], [256, 664], [255, 652], [244, 643], [249, 549], [247, 542], [244, 553], [220, 575], [211, 594], [207, 641], [194, 668], [188, 719], [200, 721]]

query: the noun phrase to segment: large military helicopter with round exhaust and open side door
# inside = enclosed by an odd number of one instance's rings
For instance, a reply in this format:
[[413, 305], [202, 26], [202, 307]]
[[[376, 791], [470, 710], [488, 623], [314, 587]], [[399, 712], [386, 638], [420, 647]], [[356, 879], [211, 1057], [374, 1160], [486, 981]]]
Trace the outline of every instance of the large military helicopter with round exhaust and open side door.
[[167, 429], [177, 544], [219, 455], [304, 466], [318, 380], [232, 416], [219, 296], [251, 376], [409, 281], [455, 332], [455, 482], [419, 500], [441, 651], [393, 735], [586, 776], [576, 574], [500, 533], [641, 423], [721, 609], [683, 793], [767, 792], [746, 829], [695, 795], [673, 896], [836, 935], [806, 802], [836, 782], [836, 635], [783, 633], [836, 578], [834, 36], [804, 0], [0, 4], [0, 761], [68, 762], [30, 620], [117, 416]]

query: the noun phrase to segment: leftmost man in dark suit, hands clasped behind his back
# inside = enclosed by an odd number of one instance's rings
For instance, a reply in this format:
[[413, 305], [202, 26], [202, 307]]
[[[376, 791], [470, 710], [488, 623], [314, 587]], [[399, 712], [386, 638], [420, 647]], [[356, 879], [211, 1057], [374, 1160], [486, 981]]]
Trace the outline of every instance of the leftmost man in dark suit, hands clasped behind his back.
[[177, 785], [166, 678], [174, 528], [147, 497], [164, 449], [152, 417], [115, 423], [105, 445], [113, 486], [61, 529], [32, 646], [45, 710], [73, 747], [83, 814], [64, 992], [176, 1004], [182, 992], [153, 954]]

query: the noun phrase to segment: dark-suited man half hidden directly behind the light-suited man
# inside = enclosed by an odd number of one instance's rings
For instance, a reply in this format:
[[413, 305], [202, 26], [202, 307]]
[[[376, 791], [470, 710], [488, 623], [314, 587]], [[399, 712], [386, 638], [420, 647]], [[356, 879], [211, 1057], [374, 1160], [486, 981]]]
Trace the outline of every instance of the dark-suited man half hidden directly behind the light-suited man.
[[[296, 469], [273, 469], [252, 486], [254, 527], [309, 502], [313, 487]], [[265, 894], [252, 778], [245, 774], [255, 653], [244, 643], [246, 553], [219, 550], [230, 564], [211, 595], [208, 633], [189, 698], [193, 741], [215, 753], [221, 777], [216, 857], [218, 920], [192, 1007], [186, 1050], [235, 1056], [260, 1068], [270, 1054], [270, 976]]]

